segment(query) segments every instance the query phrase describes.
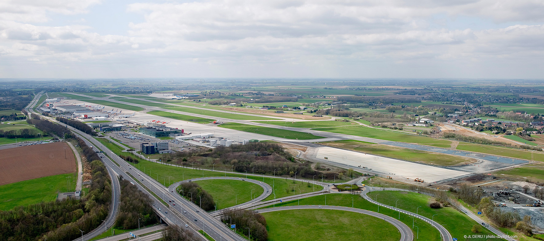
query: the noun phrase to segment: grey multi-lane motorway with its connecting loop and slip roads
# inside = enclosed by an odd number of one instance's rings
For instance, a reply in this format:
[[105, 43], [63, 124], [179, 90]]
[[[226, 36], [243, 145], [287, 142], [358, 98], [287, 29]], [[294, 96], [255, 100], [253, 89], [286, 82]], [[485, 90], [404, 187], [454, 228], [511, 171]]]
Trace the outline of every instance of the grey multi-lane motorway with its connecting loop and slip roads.
[[[32, 101], [32, 103], [29, 104], [28, 111], [31, 113], [35, 113], [32, 110], [32, 106], [36, 104], [36, 101], [40, 98], [40, 94], [36, 95], [36, 98]], [[112, 101], [112, 100], [109, 100]], [[36, 115], [39, 115], [38, 113], [35, 113]], [[42, 116], [43, 117], [43, 116]], [[44, 117], [52, 122], [56, 122], [53, 118]], [[196, 237], [200, 237], [202, 240], [205, 240], [205, 238], [197, 232], [197, 230], [205, 230], [212, 238], [215, 240], [246, 240], [245, 238], [239, 236], [237, 233], [232, 232], [230, 228], [226, 227], [221, 221], [216, 219], [214, 216], [220, 215], [219, 212], [213, 212], [213, 213], [207, 213], [204, 212], [200, 207], [196, 206], [196, 204], [186, 200], [185, 198], [181, 197], [176, 193], [176, 188], [178, 185], [180, 185], [183, 182], [189, 182], [189, 180], [183, 180], [181, 182], [175, 183], [174, 185], [169, 186], [169, 188], [166, 188], [163, 186], [160, 182], [157, 180], [154, 180], [153, 178], [147, 176], [145, 173], [139, 171], [137, 168], [132, 168], [131, 165], [127, 164], [126, 161], [119, 158], [115, 153], [112, 152], [112, 150], [109, 150], [108, 148], [104, 148], [100, 142], [95, 140], [94, 137], [84, 134], [83, 132], [76, 130], [74, 128], [71, 128], [70, 126], [67, 126], [72, 131], [76, 132], [79, 136], [83, 137], [85, 139], [85, 142], [89, 146], [94, 146], [97, 150], [103, 150], [106, 155], [103, 155], [102, 161], [104, 164], [106, 164], [107, 170], [110, 173], [110, 176], [112, 177], [112, 206], [110, 207], [110, 213], [108, 215], [108, 218], [95, 230], [86, 233], [83, 236], [83, 240], [89, 240], [92, 237], [97, 236], [98, 234], [106, 231], [108, 227], [111, 227], [114, 224], [116, 213], [119, 209], [119, 197], [120, 197], [120, 184], [118, 176], [122, 175], [124, 179], [128, 179], [132, 183], [138, 186], [138, 188], [145, 192], [147, 195], [149, 195], [154, 203], [153, 206], [157, 210], [157, 214], [169, 225], [179, 225], [180, 227], [184, 227], [186, 224], [189, 226], [187, 230], [194, 233]], [[133, 178], [134, 177], [134, 178]], [[196, 178], [193, 180], [200, 180], [200, 179], [244, 179], [244, 178], [234, 178], [234, 177], [205, 177], [205, 178]], [[256, 202], [259, 202], [263, 200], [265, 197], [271, 194], [271, 187], [268, 184], [259, 182], [254, 179], [244, 179], [247, 182], [256, 183], [258, 185], [261, 185], [263, 187], [263, 194], [259, 195], [259, 197], [255, 198], [255, 200], [252, 200], [250, 202], [246, 202], [243, 204], [239, 204], [237, 208], [248, 208], [254, 206]], [[192, 181], [192, 180], [191, 180]], [[316, 184], [321, 184], [323, 186], [327, 185], [326, 183], [320, 183], [320, 182], [314, 182]], [[325, 186], [326, 187], [326, 186]], [[366, 189], [370, 191], [370, 189]], [[324, 191], [318, 191], [318, 192], [311, 192], [308, 194], [302, 194], [302, 195], [294, 195], [291, 197], [284, 197], [284, 200], [293, 200], [293, 198], [300, 198], [305, 196], [314, 196], [314, 195], [322, 195], [324, 193], [327, 193], [330, 191], [329, 188], [325, 188]], [[362, 196], [366, 196], [366, 192], [363, 192]], [[154, 196], [154, 195], [156, 196]], [[368, 198], [367, 200], [369, 200]], [[172, 201], [172, 202], [170, 202]], [[270, 200], [267, 202], [259, 203], [259, 205], [256, 208], [269, 206], [270, 204], [277, 203], [278, 200]], [[369, 200], [370, 201], [370, 200]], [[164, 203], [167, 203], [166, 205]], [[174, 205], [176, 203], [177, 205]], [[374, 202], [375, 203], [375, 202]], [[161, 210], [158, 211], [158, 208]], [[347, 210], [351, 212], [360, 212], [368, 215], [377, 216], [379, 218], [382, 218], [391, 224], [395, 225], [397, 228], [399, 228], [399, 231], [401, 232], [401, 241], [404, 240], [413, 240], [413, 233], [411, 232], [410, 228], [408, 228], [406, 225], [402, 223], [398, 223], [396, 219], [392, 219], [391, 217], [370, 212], [368, 210], [352, 210], [351, 208], [344, 208], [344, 207], [330, 207], [330, 206], [288, 206], [288, 207], [281, 207], [281, 208], [267, 208], [263, 210], [259, 210], [259, 212], [271, 212], [273, 210], [286, 210], [286, 209], [300, 209], [300, 208], [327, 208], [327, 209], [340, 209], [340, 210]], [[392, 207], [390, 207], [392, 208]], [[164, 211], [164, 212], [163, 212]], [[170, 212], [168, 212], [170, 211]], [[202, 212], [201, 212], [202, 211]], [[401, 210], [402, 212], [405, 212]], [[416, 216], [417, 218], [421, 218], [425, 220], [425, 217], [421, 217], [419, 215]], [[471, 218], [475, 219], [471, 216]], [[479, 218], [478, 218], [479, 219]], [[476, 219], [475, 219], [476, 220]], [[431, 222], [430, 222], [431, 223]], [[443, 228], [442, 226], [438, 225], [437, 227], [438, 231], [441, 232], [442, 237], [444, 237], [444, 240], [452, 240], [450, 239], [449, 232]], [[492, 230], [493, 232], [497, 234], [503, 234], [502, 232], [498, 230]], [[496, 232], [497, 231], [497, 232]], [[448, 237], [448, 238], [446, 238]], [[158, 236], [157, 236], [158, 238]], [[81, 239], [77, 239], [81, 240]], [[147, 239], [152, 240], [152, 239]]]

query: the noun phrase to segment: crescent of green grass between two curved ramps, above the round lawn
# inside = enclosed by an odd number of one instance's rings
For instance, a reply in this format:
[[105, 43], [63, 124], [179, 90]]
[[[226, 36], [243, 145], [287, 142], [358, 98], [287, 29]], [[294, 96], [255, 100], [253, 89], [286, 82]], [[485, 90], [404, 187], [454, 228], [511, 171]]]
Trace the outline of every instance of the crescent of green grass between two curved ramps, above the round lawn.
[[[326, 205], [351, 207], [352, 197], [353, 197], [354, 208], [370, 210], [373, 212], [378, 211], [377, 205], [364, 200], [364, 198], [362, 198], [359, 195], [351, 195], [351, 194], [326, 194], [326, 195], [319, 195], [319, 196], [313, 196], [313, 197], [305, 197], [300, 199], [300, 205], [325, 205], [325, 198], [326, 198]], [[295, 206], [297, 204], [298, 204], [297, 200], [294, 200], [294, 201], [286, 201], [279, 204], [275, 204], [275, 206], [276, 207]], [[272, 207], [272, 206], [268, 206], [268, 207]], [[380, 213], [385, 214], [387, 216], [391, 216], [393, 218], [398, 218], [399, 216], [398, 212], [395, 212], [391, 209], [384, 208], [384, 207], [380, 208]], [[400, 221], [404, 222], [404, 224], [406, 224], [410, 228], [412, 227], [412, 216], [401, 213]], [[425, 241], [440, 241], [441, 240], [440, 232], [438, 232], [436, 228], [432, 227], [430, 224], [426, 223], [425, 221], [416, 219], [415, 225], [419, 227], [419, 240], [425, 240]], [[412, 228], [412, 232], [416, 234], [417, 228], [416, 227]], [[298, 240], [298, 239], [295, 239], [295, 240]], [[381, 239], [375, 239], [375, 240], [381, 240]], [[414, 240], [418, 240], [418, 239], [414, 237]]]

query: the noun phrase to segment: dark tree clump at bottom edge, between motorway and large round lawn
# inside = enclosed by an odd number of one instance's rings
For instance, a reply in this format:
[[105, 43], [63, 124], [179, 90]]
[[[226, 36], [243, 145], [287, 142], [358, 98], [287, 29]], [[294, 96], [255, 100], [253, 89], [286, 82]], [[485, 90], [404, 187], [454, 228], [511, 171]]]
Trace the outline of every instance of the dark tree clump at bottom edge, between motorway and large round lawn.
[[[230, 217], [227, 219], [227, 217]], [[254, 213], [252, 210], [225, 210], [221, 216], [221, 221], [225, 224], [235, 224], [236, 230], [245, 232], [249, 228], [250, 239], [256, 241], [268, 240], [267, 220], [259, 213]], [[245, 233], [244, 233], [245, 234]]]

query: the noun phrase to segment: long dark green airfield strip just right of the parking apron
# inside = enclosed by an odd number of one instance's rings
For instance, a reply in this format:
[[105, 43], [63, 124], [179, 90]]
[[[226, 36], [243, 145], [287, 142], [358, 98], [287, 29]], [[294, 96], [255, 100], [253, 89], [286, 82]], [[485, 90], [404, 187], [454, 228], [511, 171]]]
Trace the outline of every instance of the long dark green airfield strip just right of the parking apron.
[[220, 124], [219, 126], [228, 128], [228, 129], [241, 130], [246, 132], [253, 132], [257, 134], [282, 137], [282, 138], [288, 138], [288, 139], [311, 140], [311, 139], [325, 138], [322, 136], [315, 136], [306, 132], [283, 130], [283, 129], [277, 129], [277, 128], [257, 126], [257, 125], [239, 124], [239, 123], [233, 123], [233, 122]]

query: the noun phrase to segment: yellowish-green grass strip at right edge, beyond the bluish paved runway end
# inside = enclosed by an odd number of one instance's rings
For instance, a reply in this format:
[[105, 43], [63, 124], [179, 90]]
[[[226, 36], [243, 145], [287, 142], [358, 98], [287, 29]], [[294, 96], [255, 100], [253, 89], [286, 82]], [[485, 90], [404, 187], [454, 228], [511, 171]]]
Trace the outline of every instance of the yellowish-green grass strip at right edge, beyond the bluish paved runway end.
[[493, 155], [508, 156], [511, 158], [519, 158], [525, 160], [531, 160], [531, 154], [533, 155], [534, 160], [544, 160], [544, 154], [540, 152], [528, 152], [524, 150], [496, 147], [496, 146], [486, 146], [483, 144], [459, 144], [457, 146], [458, 150], [468, 150], [470, 152], [480, 152]]

